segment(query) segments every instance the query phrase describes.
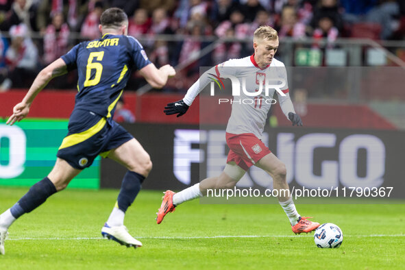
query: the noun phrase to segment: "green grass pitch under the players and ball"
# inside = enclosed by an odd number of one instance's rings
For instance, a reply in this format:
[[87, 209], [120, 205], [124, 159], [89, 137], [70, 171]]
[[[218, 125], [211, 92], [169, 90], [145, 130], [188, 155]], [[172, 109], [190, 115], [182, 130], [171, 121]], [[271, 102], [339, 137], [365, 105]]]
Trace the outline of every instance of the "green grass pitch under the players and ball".
[[[0, 188], [0, 211], [27, 188]], [[178, 206], [154, 220], [162, 193], [141, 191], [125, 225], [143, 242], [127, 248], [101, 238], [118, 191], [69, 189], [9, 230], [0, 269], [405, 269], [405, 204], [302, 204], [300, 214], [343, 230], [339, 249], [295, 236], [278, 204]], [[211, 237], [212, 236], [212, 237]]]

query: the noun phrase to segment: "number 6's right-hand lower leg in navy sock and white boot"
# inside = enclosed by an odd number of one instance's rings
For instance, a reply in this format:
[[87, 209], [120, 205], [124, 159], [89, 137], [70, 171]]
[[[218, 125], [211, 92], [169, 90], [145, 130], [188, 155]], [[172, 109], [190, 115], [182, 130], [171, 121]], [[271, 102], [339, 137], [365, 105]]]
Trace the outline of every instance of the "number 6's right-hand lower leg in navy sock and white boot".
[[136, 195], [140, 191], [140, 184], [145, 180], [145, 176], [127, 171], [121, 184], [121, 191], [108, 221], [101, 228], [103, 237], [114, 240], [127, 247], [142, 247], [142, 243], [136, 240], [124, 226], [125, 212], [134, 202]]

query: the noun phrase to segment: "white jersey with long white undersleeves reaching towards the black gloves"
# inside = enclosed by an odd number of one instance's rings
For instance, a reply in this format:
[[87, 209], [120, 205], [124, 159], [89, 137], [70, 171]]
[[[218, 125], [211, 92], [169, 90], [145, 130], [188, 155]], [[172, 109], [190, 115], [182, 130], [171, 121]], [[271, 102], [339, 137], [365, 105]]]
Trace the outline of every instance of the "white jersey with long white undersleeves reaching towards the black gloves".
[[[214, 77], [217, 79], [225, 77], [230, 78], [231, 82], [232, 79], [238, 82], [239, 89], [234, 89], [235, 86], [232, 82], [234, 98], [232, 100], [232, 113], [226, 128], [228, 133], [253, 133], [261, 139], [267, 113], [271, 104], [275, 102], [273, 95], [276, 88], [278, 88], [278, 101], [287, 119], [289, 112], [295, 113], [289, 95], [286, 68], [282, 62], [275, 58], [265, 69], [260, 69], [254, 60], [254, 55], [231, 59], [214, 66], [201, 75], [197, 82], [188, 89], [183, 99], [188, 106], [191, 106], [199, 92], [212, 82], [212, 75], [215, 75]], [[222, 105], [219, 104], [219, 106]]]

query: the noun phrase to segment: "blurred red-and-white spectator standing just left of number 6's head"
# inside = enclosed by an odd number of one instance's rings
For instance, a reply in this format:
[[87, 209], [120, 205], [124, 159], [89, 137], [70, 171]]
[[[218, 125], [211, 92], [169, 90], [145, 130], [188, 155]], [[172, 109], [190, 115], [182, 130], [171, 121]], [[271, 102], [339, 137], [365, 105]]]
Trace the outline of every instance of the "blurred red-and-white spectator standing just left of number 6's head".
[[62, 12], [53, 15], [52, 23], [48, 25], [44, 36], [45, 64], [50, 64], [68, 50], [69, 26], [64, 22]]

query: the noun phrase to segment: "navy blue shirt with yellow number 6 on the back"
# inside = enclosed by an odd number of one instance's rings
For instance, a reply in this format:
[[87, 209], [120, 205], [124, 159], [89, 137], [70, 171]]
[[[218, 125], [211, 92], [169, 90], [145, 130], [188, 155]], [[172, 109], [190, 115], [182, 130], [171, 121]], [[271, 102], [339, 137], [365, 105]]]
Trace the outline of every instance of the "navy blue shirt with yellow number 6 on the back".
[[132, 69], [151, 64], [142, 45], [132, 36], [105, 34], [81, 42], [62, 56], [68, 71], [77, 69], [75, 109], [112, 117]]

